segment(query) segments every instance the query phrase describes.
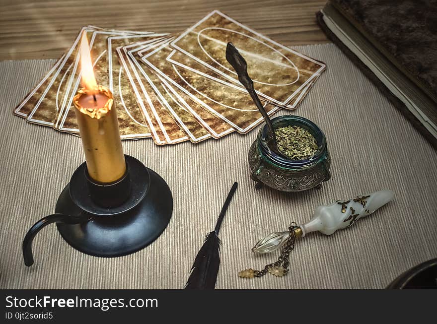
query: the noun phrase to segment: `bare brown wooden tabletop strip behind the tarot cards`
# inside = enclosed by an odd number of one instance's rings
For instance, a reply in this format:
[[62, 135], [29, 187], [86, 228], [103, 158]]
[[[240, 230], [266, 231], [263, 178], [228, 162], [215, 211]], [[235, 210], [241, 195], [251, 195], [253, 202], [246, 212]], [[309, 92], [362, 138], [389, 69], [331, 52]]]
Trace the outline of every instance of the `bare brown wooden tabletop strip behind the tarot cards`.
[[1, 0], [0, 60], [54, 59], [81, 26], [181, 32], [213, 9], [284, 45], [328, 42], [315, 20], [326, 0]]

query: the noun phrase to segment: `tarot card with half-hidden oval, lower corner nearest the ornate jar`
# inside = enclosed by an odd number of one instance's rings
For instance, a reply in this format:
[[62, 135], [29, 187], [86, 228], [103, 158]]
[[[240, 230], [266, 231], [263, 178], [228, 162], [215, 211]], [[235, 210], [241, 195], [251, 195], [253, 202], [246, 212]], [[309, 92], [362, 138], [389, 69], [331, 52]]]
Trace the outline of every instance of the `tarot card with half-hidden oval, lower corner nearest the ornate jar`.
[[[142, 60], [170, 84], [185, 92], [191, 100], [238, 132], [247, 133], [263, 121], [247, 93], [172, 65], [166, 60], [171, 52], [168, 44], [163, 44], [142, 57]], [[265, 108], [269, 115], [279, 110], [268, 103], [265, 103]]]

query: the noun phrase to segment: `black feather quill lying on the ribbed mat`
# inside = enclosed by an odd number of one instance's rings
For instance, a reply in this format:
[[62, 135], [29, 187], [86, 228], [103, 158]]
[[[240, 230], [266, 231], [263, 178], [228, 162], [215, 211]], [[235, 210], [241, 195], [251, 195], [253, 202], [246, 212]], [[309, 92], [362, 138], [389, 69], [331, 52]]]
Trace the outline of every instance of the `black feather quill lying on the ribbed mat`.
[[191, 274], [185, 285], [185, 289], [214, 289], [216, 287], [218, 267], [220, 266], [219, 251], [221, 245], [221, 241], [218, 238], [218, 231], [220, 230], [224, 214], [226, 213], [226, 209], [229, 206], [237, 186], [238, 184], [234, 182], [221, 208], [220, 215], [218, 215], [216, 228], [207, 234], [202, 248], [197, 254], [196, 259], [194, 259]]

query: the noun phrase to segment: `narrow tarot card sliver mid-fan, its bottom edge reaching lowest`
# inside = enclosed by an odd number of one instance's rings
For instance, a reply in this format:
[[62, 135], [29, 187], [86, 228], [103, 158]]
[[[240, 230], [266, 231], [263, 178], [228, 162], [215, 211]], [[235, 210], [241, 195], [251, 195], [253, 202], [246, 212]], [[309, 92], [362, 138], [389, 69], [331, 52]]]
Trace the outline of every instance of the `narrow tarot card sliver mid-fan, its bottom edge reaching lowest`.
[[159, 102], [148, 86], [146, 77], [137, 70], [135, 63], [129, 60], [123, 48], [117, 48], [116, 53], [132, 85], [153, 141], [158, 145], [164, 145], [188, 140], [188, 136], [179, 128], [170, 112]]

